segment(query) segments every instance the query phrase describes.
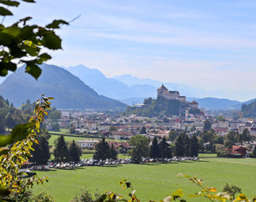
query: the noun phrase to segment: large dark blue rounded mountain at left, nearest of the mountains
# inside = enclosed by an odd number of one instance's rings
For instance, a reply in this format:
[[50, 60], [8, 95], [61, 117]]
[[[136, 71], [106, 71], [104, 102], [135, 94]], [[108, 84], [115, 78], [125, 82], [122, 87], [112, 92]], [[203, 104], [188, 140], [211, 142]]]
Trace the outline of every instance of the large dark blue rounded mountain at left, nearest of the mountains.
[[15, 106], [26, 99], [37, 101], [41, 94], [54, 97], [53, 106], [59, 109], [114, 109], [123, 111], [126, 104], [99, 96], [78, 77], [58, 66], [43, 63], [38, 80], [25, 73], [25, 66], [18, 68], [0, 84], [0, 94]]

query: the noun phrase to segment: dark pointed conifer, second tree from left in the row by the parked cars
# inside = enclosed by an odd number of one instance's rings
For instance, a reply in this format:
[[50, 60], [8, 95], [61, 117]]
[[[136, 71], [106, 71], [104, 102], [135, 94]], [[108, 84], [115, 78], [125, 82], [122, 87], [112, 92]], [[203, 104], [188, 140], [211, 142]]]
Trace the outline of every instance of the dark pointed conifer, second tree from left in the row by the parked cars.
[[53, 155], [56, 162], [66, 162], [68, 160], [67, 142], [63, 135], [59, 136], [57, 139]]

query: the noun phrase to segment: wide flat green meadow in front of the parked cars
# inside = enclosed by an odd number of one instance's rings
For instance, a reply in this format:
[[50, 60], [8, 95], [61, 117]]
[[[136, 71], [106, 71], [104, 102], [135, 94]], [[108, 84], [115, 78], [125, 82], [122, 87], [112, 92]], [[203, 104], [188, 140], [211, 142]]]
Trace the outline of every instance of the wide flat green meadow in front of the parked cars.
[[[127, 195], [118, 185], [122, 179], [129, 179], [141, 201], [160, 200], [179, 188], [185, 194], [193, 194], [198, 188], [187, 178], [176, 177], [178, 173], [192, 176], [197, 174], [208, 187], [216, 187], [220, 192], [226, 182], [241, 187], [243, 193], [252, 197], [256, 194], [256, 160], [207, 158], [197, 162], [167, 164], [127, 164], [118, 166], [84, 167], [75, 170], [37, 171], [39, 176], [48, 176], [50, 181], [37, 185], [34, 190], [39, 193], [46, 190], [52, 193], [56, 201], [70, 201], [87, 188], [91, 193], [104, 193], [111, 190]], [[192, 198], [189, 201], [206, 201], [204, 198]]]

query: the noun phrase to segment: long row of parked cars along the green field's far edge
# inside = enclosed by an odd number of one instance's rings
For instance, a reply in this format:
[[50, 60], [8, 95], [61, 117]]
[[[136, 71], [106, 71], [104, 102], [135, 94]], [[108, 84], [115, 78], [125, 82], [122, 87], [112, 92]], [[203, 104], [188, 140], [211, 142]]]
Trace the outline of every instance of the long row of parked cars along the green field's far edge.
[[[173, 157], [173, 158], [143, 158], [142, 163], [157, 163], [157, 162], [172, 162], [172, 161], [186, 161], [186, 160], [199, 160], [199, 158], [192, 157]], [[95, 160], [91, 159], [82, 159], [79, 163], [50, 163], [49, 168], [78, 168], [83, 166], [105, 166], [105, 165], [118, 165], [124, 163], [134, 163], [131, 158], [118, 159], [118, 160]]]

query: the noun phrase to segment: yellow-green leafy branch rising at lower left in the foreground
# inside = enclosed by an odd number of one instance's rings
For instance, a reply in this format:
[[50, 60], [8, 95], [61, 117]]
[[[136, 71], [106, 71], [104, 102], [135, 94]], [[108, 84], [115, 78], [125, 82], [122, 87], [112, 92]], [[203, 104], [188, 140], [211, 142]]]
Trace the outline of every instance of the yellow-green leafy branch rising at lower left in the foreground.
[[[37, 101], [34, 109], [34, 116], [28, 123], [16, 125], [12, 133], [7, 136], [1, 136], [0, 147], [12, 144], [10, 149], [1, 149], [0, 156], [0, 185], [7, 190], [6, 193], [0, 193], [1, 198], [23, 198], [28, 194], [28, 188], [32, 187], [34, 182], [41, 182], [38, 176], [32, 176], [29, 179], [23, 179], [18, 168], [31, 157], [30, 150], [33, 143], [38, 143], [35, 139], [39, 132], [39, 125], [44, 120], [46, 110], [50, 109], [47, 97]], [[11, 195], [10, 195], [11, 193]]]

